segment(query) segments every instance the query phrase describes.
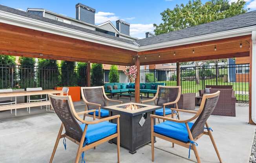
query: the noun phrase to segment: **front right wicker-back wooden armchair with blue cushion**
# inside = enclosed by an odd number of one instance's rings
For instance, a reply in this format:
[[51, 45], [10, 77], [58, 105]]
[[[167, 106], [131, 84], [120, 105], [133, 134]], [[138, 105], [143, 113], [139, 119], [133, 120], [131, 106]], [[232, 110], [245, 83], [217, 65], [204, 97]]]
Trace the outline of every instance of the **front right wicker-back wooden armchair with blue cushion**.
[[[181, 145], [191, 150], [194, 150], [196, 155], [196, 159], [198, 163], [201, 163], [198, 152], [197, 152], [197, 143], [195, 142], [201, 136], [208, 135], [212, 141], [216, 154], [219, 158], [219, 162], [221, 163], [221, 158], [219, 156], [219, 152], [215, 141], [212, 136], [211, 128], [207, 124], [207, 119], [214, 111], [214, 108], [218, 102], [219, 91], [213, 94], [205, 94], [203, 95], [203, 99], [199, 110], [191, 111], [191, 110], [182, 110], [182, 109], [172, 109], [179, 110], [179, 112], [187, 112], [195, 114], [194, 117], [188, 120], [176, 120], [173, 118], [167, 118], [164, 116], [150, 115], [151, 117], [151, 147], [152, 147], [152, 161], [154, 161], [154, 137], [158, 137], [161, 139], [165, 139], [166, 141], [170, 141], [177, 145]], [[158, 125], [154, 125], [154, 118], [160, 118], [162, 120], [166, 120], [163, 123]], [[196, 120], [194, 123], [191, 121]], [[207, 132], [204, 131], [207, 129]], [[190, 155], [188, 155], [189, 158]]]

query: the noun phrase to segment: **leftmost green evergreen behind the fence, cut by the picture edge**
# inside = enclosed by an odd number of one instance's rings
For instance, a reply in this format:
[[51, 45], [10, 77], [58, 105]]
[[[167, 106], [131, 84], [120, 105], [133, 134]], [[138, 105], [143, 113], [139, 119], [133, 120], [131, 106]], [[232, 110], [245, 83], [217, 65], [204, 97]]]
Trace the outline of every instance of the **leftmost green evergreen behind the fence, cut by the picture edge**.
[[0, 71], [0, 89], [13, 87], [12, 85], [12, 70], [15, 65], [15, 56], [8, 56], [0, 54], [0, 64], [2, 69]]

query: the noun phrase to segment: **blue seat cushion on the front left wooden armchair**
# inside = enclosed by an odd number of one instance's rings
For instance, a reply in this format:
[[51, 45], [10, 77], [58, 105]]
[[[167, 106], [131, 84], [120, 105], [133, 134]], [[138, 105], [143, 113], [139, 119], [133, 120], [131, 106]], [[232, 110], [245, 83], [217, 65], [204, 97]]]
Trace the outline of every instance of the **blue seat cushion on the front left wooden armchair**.
[[[84, 131], [85, 124], [81, 124], [80, 127]], [[112, 134], [115, 134], [116, 132], [117, 124], [103, 121], [101, 123], [88, 125], [85, 140], [87, 141], [87, 144], [90, 144], [100, 139], [106, 138]]]

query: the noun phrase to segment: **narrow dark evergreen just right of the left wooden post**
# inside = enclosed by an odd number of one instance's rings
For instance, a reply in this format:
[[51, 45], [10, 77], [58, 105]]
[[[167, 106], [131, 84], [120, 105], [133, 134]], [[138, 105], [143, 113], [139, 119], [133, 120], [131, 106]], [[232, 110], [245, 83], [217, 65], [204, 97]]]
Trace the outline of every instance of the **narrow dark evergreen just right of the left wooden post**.
[[91, 64], [91, 86], [100, 86], [103, 84], [102, 64]]

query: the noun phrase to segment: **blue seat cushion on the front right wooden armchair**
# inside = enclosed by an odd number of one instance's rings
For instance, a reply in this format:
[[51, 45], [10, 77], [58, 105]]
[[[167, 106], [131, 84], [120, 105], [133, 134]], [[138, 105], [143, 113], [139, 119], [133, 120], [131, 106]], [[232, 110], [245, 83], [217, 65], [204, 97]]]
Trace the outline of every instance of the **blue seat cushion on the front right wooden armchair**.
[[[189, 129], [194, 125], [194, 123], [188, 122]], [[185, 123], [177, 123], [173, 121], [165, 121], [154, 125], [154, 132], [158, 134], [168, 136], [170, 138], [178, 139], [183, 142], [188, 142], [188, 131]]]

